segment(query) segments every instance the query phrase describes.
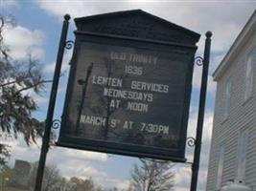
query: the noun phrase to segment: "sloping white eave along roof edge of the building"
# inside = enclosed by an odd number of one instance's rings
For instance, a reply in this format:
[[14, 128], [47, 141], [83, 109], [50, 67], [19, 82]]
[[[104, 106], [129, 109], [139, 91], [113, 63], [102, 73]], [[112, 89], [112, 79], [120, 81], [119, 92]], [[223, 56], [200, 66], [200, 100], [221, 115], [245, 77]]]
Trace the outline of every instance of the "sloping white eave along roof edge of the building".
[[233, 63], [232, 60], [244, 47], [244, 44], [249, 39], [249, 37], [256, 32], [256, 11], [254, 11], [246, 22], [242, 32], [239, 33], [238, 37], [225, 54], [224, 58], [221, 61], [221, 64], [218, 66], [216, 71], [213, 73], [213, 78], [215, 81], [218, 81], [225, 70]]

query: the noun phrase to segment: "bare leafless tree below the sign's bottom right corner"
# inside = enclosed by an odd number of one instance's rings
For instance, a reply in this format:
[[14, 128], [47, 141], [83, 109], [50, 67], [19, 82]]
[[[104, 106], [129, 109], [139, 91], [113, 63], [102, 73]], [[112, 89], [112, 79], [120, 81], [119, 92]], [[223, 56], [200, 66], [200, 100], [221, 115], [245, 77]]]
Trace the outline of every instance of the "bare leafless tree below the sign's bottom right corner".
[[169, 191], [174, 187], [174, 164], [170, 161], [140, 159], [131, 172], [131, 188], [135, 191]]

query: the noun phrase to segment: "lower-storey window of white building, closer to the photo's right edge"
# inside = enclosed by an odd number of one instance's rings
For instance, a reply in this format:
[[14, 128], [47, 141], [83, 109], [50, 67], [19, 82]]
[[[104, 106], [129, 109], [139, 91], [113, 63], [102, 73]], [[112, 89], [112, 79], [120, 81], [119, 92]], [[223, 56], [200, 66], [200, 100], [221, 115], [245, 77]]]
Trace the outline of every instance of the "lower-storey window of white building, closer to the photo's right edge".
[[237, 177], [239, 179], [245, 178], [247, 143], [248, 143], [248, 131], [245, 130], [244, 132], [241, 133], [239, 138], [238, 169], [237, 169]]

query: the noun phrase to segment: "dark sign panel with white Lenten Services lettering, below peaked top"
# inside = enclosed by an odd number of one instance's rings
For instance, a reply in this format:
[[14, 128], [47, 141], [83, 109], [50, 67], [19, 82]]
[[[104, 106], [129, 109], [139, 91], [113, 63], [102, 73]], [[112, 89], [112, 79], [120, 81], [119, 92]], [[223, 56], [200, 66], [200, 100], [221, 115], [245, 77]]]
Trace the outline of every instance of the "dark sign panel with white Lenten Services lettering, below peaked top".
[[58, 144], [184, 161], [195, 51], [76, 32]]

